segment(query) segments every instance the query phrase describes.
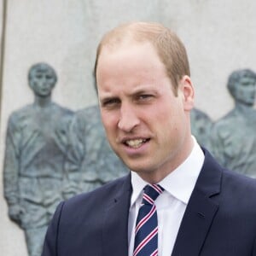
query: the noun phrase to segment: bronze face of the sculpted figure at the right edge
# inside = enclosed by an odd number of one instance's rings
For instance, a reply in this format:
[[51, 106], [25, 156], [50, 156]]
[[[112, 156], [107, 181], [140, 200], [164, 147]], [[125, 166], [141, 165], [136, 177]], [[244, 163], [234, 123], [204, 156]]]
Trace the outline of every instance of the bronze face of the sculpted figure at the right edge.
[[236, 83], [236, 101], [248, 106], [255, 102], [256, 84], [255, 79], [243, 77]]

